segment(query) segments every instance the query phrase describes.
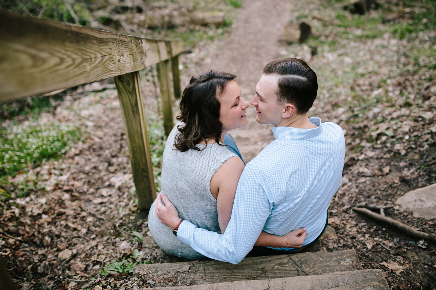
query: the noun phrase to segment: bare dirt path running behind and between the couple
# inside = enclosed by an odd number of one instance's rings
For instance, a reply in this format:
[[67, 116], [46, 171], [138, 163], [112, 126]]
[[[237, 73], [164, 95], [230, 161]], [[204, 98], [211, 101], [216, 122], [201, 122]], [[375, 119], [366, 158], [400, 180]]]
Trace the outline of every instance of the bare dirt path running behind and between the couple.
[[[290, 19], [290, 1], [244, 1], [242, 11], [232, 25], [232, 33], [218, 43], [203, 70], [222, 70], [238, 76], [242, 97], [250, 101], [262, 69], [271, 60], [279, 59], [284, 44], [279, 42], [283, 27]], [[200, 72], [200, 70], [198, 70]], [[269, 125], [256, 122], [256, 113], [250, 105], [246, 127], [232, 130], [245, 163], [252, 160], [274, 137]]]

